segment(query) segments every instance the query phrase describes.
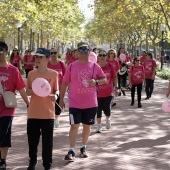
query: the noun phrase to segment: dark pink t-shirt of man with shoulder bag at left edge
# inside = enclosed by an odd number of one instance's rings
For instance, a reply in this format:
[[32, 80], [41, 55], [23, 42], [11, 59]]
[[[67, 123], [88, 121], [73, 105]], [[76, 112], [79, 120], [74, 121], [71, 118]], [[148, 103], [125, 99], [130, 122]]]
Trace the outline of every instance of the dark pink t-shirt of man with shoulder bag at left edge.
[[[5, 91], [15, 92], [15, 90], [25, 88], [25, 83], [19, 70], [12, 64], [8, 64], [6, 67], [0, 67], [0, 82]], [[3, 96], [0, 94], [0, 117], [14, 116], [14, 113], [14, 108], [5, 107]]]

